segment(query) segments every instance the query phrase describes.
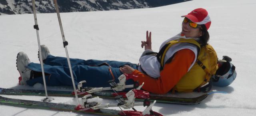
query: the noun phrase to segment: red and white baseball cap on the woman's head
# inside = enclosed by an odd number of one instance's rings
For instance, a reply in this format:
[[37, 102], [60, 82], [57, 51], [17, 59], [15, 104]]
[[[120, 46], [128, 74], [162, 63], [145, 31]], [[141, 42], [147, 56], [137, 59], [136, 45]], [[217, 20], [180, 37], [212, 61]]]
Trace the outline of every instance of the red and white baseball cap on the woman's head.
[[204, 8], [196, 8], [195, 10], [192, 10], [190, 13], [188, 13], [188, 15], [184, 15], [181, 17], [186, 17], [196, 24], [204, 24], [207, 30], [210, 28], [211, 25], [210, 16]]

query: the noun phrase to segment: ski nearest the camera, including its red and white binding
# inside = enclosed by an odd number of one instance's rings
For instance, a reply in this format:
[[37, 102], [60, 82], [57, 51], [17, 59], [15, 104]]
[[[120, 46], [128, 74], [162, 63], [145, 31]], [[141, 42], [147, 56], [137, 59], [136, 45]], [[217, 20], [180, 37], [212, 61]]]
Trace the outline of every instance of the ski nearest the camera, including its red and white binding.
[[[143, 86], [143, 84], [142, 84]], [[79, 112], [79, 113], [91, 113], [97, 115], [106, 115], [106, 116], [163, 116], [158, 112], [154, 112], [152, 107], [156, 103], [150, 102], [150, 94], [143, 90], [132, 89], [126, 93], [127, 100], [123, 96], [116, 96], [115, 100], [118, 102], [116, 104], [110, 103], [99, 103], [99, 102], [89, 102], [88, 99], [92, 98], [92, 94], [87, 94], [81, 98], [82, 104], [77, 106], [69, 104], [58, 104], [50, 102], [39, 102], [31, 100], [20, 100], [5, 98], [0, 96], [0, 104], [10, 105], [10, 106], [19, 106], [26, 108], [40, 108], [40, 109], [49, 109], [49, 110], [60, 110], [60, 111], [70, 111], [70, 112]], [[143, 102], [135, 102], [136, 97], [144, 98]], [[134, 106], [146, 106], [146, 109], [142, 112], [137, 111]], [[110, 110], [105, 109], [109, 107], [119, 107], [120, 110]], [[133, 110], [122, 110], [124, 109], [133, 109]]]

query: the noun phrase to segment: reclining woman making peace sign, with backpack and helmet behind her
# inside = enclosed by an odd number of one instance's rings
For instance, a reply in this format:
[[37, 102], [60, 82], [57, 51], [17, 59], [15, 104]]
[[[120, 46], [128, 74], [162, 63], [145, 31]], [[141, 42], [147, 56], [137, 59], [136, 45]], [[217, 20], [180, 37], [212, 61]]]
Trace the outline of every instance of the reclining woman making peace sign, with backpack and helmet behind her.
[[[126, 85], [134, 81], [144, 82], [142, 87], [152, 93], [165, 94], [170, 90], [177, 92], [200, 91], [204, 84], [211, 82], [210, 77], [218, 69], [217, 55], [214, 49], [207, 44], [208, 29], [211, 20], [208, 12], [197, 8], [188, 15], [182, 16], [182, 31], [180, 34], [166, 40], [160, 46], [158, 53], [151, 49], [151, 32], [146, 33], [146, 41], [141, 47], [145, 51], [140, 57], [140, 65], [130, 62], [109, 60], [81, 60], [70, 58], [74, 80], [77, 84], [86, 80], [85, 86], [108, 87], [108, 81], [123, 74], [134, 74], [126, 81]], [[72, 86], [67, 59], [52, 56], [48, 48], [41, 46], [46, 84], [48, 86]], [[17, 68], [20, 72], [20, 84], [33, 86], [43, 84], [40, 64], [30, 62], [24, 52], [17, 56]], [[212, 80], [217, 86], [228, 86], [236, 77], [234, 66], [228, 62], [217, 71]], [[209, 84], [208, 84], [209, 85]], [[200, 88], [200, 89], [199, 89]], [[204, 88], [206, 90], [206, 88]]]

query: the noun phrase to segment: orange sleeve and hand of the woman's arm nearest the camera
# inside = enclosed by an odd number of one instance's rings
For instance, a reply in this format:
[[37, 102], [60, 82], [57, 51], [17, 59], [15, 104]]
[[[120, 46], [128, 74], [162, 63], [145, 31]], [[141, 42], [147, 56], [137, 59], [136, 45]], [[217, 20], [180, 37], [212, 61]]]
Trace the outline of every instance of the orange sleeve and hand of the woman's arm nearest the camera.
[[195, 59], [195, 54], [190, 49], [182, 49], [174, 54], [172, 61], [164, 65], [160, 72], [160, 77], [155, 79], [138, 70], [134, 70], [132, 74], [138, 75], [134, 81], [144, 82], [142, 87], [144, 90], [156, 94], [165, 94], [170, 91], [179, 80], [188, 72]]

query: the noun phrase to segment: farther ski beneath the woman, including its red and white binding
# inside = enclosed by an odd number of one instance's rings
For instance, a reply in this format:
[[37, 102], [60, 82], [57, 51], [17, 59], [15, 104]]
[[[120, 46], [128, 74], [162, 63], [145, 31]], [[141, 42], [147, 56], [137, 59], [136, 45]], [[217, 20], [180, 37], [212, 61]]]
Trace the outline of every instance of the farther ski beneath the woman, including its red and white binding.
[[[116, 83], [114, 80], [110, 80], [109, 84], [110, 87], [98, 87], [98, 88], [92, 88], [92, 87], [82, 87], [82, 84], [86, 83], [85, 80], [78, 83], [76, 90], [76, 93], [78, 97], [83, 97], [88, 94], [92, 94], [92, 96], [99, 96], [100, 98], [108, 98], [108, 99], [114, 99], [116, 96], [123, 96], [123, 98], [126, 98], [126, 92], [117, 92], [122, 91], [125, 88], [136, 88], [136, 90], [140, 90], [142, 88], [143, 84], [139, 86], [138, 83], [134, 83], [134, 85], [125, 85], [126, 79], [129, 78], [129, 76], [135, 76], [131, 74], [122, 74], [118, 77], [119, 82]], [[111, 91], [110, 91], [111, 90]], [[113, 92], [114, 91], [114, 92]], [[150, 94], [149, 92], [144, 91], [145, 93]], [[22, 89], [6, 89], [6, 88], [0, 88], [0, 94], [8, 94], [8, 95], [31, 95], [31, 96], [45, 96], [44, 90], [22, 90]], [[47, 91], [48, 96], [63, 96], [63, 97], [75, 97], [74, 91], [55, 91], [55, 90], [48, 90]], [[198, 95], [199, 94], [199, 95]], [[187, 94], [186, 94], [187, 95]], [[156, 100], [156, 102], [162, 102], [162, 103], [170, 103], [170, 104], [199, 104], [204, 100], [209, 94], [208, 93], [197, 93], [196, 97], [193, 98], [182, 98], [174, 96], [171, 93], [167, 93], [164, 95], [160, 94], [150, 94], [149, 98], [151, 101]], [[145, 98], [141, 96], [137, 96], [136, 100], [143, 101]]]

